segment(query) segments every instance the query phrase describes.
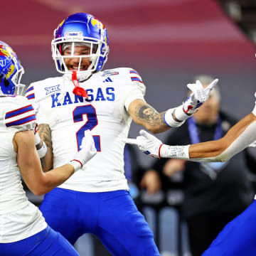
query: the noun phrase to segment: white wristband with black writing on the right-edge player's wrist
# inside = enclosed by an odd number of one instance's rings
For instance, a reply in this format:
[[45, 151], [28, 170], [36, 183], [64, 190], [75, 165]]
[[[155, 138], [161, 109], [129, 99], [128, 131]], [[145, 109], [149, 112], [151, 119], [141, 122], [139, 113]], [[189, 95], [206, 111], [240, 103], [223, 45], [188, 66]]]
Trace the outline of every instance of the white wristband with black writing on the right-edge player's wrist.
[[188, 153], [189, 146], [190, 145], [169, 146], [169, 145], [163, 144], [161, 146], [161, 149], [159, 149], [159, 156], [161, 156], [162, 158], [188, 160], [189, 159], [189, 153]]

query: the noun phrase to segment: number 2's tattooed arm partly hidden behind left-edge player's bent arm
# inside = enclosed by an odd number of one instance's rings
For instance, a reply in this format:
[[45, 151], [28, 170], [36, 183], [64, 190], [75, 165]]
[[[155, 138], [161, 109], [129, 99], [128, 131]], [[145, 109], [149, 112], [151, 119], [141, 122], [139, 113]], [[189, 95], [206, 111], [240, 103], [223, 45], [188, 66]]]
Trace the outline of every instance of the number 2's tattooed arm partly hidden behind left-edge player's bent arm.
[[51, 131], [48, 124], [39, 124], [38, 125], [38, 134], [43, 139], [43, 142], [46, 143], [48, 152], [45, 157], [41, 158], [41, 166], [43, 171], [49, 171], [53, 168], [53, 144], [51, 140]]

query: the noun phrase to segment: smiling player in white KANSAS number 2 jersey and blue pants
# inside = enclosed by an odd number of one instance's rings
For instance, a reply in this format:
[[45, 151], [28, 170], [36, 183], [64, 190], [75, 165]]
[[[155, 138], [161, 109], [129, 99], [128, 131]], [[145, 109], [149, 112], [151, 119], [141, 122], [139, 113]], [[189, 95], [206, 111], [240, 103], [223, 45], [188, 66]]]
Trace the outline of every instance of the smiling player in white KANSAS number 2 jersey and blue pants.
[[[90, 14], [73, 14], [60, 23], [52, 41], [53, 60], [62, 77], [33, 82], [26, 97], [41, 101], [38, 132], [52, 154], [44, 170], [65, 163], [90, 129], [97, 156], [85, 171], [46, 194], [46, 222], [72, 244], [95, 234], [112, 255], [159, 255], [153, 233], [139, 213], [124, 177], [124, 142], [134, 120], [149, 131], [178, 127], [207, 100], [208, 88], [188, 85], [193, 95], [183, 105], [157, 112], [144, 100], [146, 87], [132, 68], [102, 71], [109, 52], [105, 26]], [[63, 225], [65, 223], [65, 225]]]

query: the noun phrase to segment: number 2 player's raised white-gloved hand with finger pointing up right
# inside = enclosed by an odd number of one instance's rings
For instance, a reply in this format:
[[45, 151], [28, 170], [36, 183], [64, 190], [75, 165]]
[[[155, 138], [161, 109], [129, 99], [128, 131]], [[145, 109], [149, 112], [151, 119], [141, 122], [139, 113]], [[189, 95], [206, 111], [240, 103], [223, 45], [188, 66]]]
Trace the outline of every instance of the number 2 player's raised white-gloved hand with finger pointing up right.
[[183, 111], [186, 114], [193, 114], [197, 112], [198, 107], [200, 107], [206, 100], [208, 100], [210, 91], [217, 84], [218, 79], [213, 80], [206, 88], [199, 80], [196, 80], [194, 84], [188, 84], [187, 87], [192, 91], [191, 95], [188, 97], [186, 102], [183, 103]]

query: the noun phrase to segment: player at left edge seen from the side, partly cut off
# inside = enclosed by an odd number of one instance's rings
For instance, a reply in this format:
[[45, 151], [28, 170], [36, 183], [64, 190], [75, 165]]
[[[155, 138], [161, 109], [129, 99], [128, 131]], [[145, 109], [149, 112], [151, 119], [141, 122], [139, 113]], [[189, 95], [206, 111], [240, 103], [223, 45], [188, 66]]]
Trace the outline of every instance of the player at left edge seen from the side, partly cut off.
[[26, 97], [14, 95], [15, 89], [18, 92], [23, 87], [22, 74], [16, 53], [0, 41], [0, 256], [78, 256], [28, 201], [19, 171], [28, 188], [35, 195], [42, 195], [66, 181], [94, 156], [95, 144], [90, 132], [86, 132], [84, 148], [75, 159], [67, 159], [65, 165], [45, 174], [39, 156], [45, 156], [47, 149], [38, 134], [34, 135], [35, 111]]

